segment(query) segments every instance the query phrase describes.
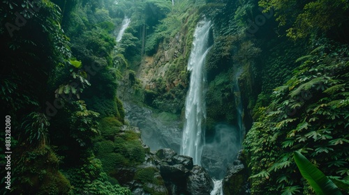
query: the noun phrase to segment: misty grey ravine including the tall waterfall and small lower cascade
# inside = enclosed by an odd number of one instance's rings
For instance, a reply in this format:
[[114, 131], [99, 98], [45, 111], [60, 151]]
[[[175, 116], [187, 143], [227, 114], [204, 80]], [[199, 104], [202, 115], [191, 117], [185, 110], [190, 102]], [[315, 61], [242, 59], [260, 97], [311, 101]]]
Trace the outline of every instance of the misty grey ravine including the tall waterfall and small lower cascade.
[[[205, 168], [214, 180], [212, 195], [223, 194], [223, 178], [227, 168], [232, 163], [242, 147], [244, 124], [242, 116], [242, 101], [238, 78], [242, 70], [235, 71], [235, 82], [232, 92], [235, 94], [237, 120], [235, 125], [216, 124], [216, 134], [213, 141], [205, 143], [206, 118], [205, 91], [206, 72], [204, 71], [205, 56], [209, 52], [209, 36], [211, 22], [202, 21], [195, 29], [193, 47], [188, 61], [188, 71], [191, 72], [190, 86], [186, 97], [186, 119], [183, 131], [179, 116], [164, 119], [166, 113], [154, 113], [151, 109], [138, 106], [124, 100], [126, 120], [132, 126], [139, 127], [142, 141], [152, 151], [171, 148], [181, 155], [193, 157], [193, 164]], [[166, 118], [166, 117], [165, 117]], [[212, 189], [212, 188], [211, 188]]]

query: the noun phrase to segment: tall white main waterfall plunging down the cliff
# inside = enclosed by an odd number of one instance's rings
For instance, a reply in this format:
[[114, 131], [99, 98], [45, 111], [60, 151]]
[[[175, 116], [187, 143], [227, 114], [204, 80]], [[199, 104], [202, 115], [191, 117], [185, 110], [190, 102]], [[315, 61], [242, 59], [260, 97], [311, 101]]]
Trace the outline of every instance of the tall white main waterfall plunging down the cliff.
[[186, 121], [184, 123], [181, 154], [193, 157], [194, 164], [201, 164], [205, 132], [202, 121], [206, 118], [205, 107], [205, 57], [209, 51], [209, 29], [211, 22], [201, 21], [196, 26], [193, 49], [188, 61], [191, 72], [189, 91], [186, 96]]

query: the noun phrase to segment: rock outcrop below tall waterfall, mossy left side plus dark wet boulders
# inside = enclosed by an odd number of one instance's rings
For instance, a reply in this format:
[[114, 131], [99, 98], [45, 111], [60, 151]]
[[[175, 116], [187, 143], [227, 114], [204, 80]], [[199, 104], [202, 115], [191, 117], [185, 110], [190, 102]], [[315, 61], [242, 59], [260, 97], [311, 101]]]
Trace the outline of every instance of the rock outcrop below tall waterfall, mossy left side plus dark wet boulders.
[[207, 171], [194, 165], [192, 157], [168, 148], [147, 154], [138, 166], [117, 168], [112, 176], [135, 195], [209, 195], [214, 188]]

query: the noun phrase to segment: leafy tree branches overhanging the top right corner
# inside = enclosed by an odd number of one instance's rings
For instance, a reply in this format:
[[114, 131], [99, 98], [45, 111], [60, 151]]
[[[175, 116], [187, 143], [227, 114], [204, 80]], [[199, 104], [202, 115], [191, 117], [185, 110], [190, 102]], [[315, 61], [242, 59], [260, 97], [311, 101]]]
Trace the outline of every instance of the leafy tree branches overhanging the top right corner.
[[[346, 11], [349, 8], [348, 1], [343, 0], [260, 0], [259, 5], [266, 8], [266, 11], [274, 10], [280, 26], [292, 26], [288, 27], [287, 36], [293, 39], [343, 26], [348, 18]], [[337, 35], [343, 36], [339, 33]]]

